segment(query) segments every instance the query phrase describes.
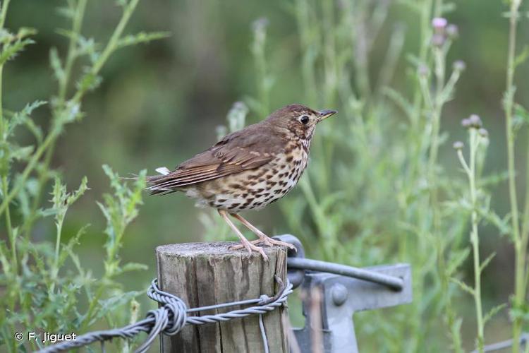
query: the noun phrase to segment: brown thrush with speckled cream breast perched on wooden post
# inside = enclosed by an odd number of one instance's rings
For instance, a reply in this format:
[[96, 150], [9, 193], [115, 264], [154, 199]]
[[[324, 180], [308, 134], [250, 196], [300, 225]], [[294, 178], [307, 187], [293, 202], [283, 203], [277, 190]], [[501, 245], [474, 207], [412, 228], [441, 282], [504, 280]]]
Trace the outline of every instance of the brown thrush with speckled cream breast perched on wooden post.
[[[151, 195], [181, 191], [195, 198], [198, 207], [217, 210], [241, 240], [230, 249], [257, 251], [265, 261], [265, 246], [292, 244], [268, 237], [239, 213], [261, 210], [284, 197], [298, 183], [308, 165], [310, 142], [318, 123], [336, 114], [289, 104], [257, 124], [224, 136], [204, 152], [179, 164], [174, 170], [159, 167], [159, 175], [146, 177]], [[258, 239], [249, 241], [231, 217], [250, 229]]]

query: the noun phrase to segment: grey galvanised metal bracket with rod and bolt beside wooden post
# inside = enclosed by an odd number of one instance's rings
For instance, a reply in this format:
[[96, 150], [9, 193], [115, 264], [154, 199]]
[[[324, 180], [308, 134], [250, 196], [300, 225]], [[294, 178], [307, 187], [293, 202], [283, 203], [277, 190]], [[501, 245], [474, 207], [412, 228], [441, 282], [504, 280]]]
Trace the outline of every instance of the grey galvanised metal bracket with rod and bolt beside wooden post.
[[[291, 283], [301, 285], [305, 327], [293, 328], [293, 332], [303, 353], [358, 352], [353, 323], [355, 312], [412, 301], [411, 267], [408, 264], [353, 268], [313, 261], [303, 259], [305, 253], [296, 237], [288, 234], [276, 238], [298, 248], [297, 253], [289, 253], [294, 259], [288, 258], [287, 268]], [[300, 280], [303, 272], [303, 280]], [[315, 296], [315, 291], [320, 295]]]

